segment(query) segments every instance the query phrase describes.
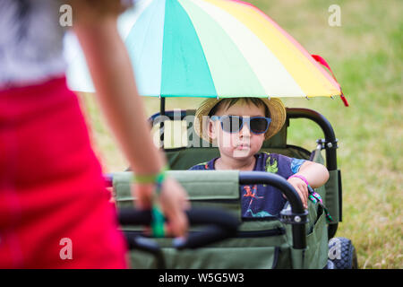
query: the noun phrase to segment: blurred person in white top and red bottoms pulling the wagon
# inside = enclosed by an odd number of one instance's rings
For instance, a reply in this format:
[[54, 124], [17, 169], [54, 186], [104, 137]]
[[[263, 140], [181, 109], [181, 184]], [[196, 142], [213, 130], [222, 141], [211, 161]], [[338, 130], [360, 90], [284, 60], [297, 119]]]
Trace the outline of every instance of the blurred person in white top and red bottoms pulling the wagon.
[[[2, 0], [0, 268], [125, 268], [127, 250], [116, 209], [77, 97], [66, 86], [62, 4], [73, 7], [73, 32], [100, 105], [136, 174], [133, 192], [139, 206], [158, 203], [169, 221], [166, 233], [187, 232], [184, 189], [165, 177], [165, 158], [151, 140], [116, 28], [118, 15], [131, 4]], [[156, 178], [163, 178], [159, 196]], [[71, 243], [68, 258], [62, 254], [64, 242]]]

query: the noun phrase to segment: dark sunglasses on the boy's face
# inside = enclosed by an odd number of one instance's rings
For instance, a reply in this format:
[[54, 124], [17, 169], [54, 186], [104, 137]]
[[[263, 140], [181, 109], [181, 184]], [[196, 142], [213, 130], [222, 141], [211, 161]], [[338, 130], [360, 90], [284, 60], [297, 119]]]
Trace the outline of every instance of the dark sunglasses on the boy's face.
[[256, 135], [266, 133], [271, 122], [270, 117], [212, 116], [210, 119], [219, 120], [223, 131], [227, 133], [238, 133], [246, 122], [249, 130]]

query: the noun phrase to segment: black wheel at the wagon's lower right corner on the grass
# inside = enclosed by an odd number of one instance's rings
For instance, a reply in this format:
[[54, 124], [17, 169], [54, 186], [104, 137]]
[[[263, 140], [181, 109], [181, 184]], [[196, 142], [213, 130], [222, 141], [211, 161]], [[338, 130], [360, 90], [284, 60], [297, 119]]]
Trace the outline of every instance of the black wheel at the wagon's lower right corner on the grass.
[[335, 269], [357, 269], [356, 248], [350, 239], [335, 237], [329, 241], [329, 260]]

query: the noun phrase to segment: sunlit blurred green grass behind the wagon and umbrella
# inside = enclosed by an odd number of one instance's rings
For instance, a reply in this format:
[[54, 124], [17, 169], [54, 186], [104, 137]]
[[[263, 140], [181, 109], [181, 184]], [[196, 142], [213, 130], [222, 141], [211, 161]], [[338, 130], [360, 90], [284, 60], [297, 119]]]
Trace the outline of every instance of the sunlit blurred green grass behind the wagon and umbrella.
[[[403, 2], [400, 0], [251, 0], [311, 54], [324, 57], [341, 84], [339, 99], [287, 99], [287, 107], [315, 109], [339, 138], [343, 222], [337, 236], [352, 239], [360, 268], [402, 268]], [[339, 4], [341, 26], [330, 27], [330, 4]], [[145, 99], [147, 113], [158, 99]], [[81, 95], [91, 137], [105, 171], [124, 170], [94, 96]], [[168, 99], [167, 109], [195, 108], [198, 100]], [[133, 108], [133, 112], [134, 108]], [[322, 138], [304, 119], [292, 121], [289, 142], [312, 150]]]

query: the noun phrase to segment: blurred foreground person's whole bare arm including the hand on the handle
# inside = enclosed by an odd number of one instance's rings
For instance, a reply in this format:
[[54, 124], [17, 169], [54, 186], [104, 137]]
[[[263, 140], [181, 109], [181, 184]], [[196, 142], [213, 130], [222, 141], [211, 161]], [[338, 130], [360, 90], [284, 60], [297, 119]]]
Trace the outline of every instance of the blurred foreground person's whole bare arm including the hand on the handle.
[[[97, 1], [77, 0], [73, 3], [73, 13], [78, 14], [73, 30], [81, 43], [108, 123], [133, 171], [144, 175], [156, 174], [164, 166], [165, 158], [152, 142], [130, 57], [116, 28], [120, 11], [114, 3], [119, 1], [107, 2], [112, 6], [106, 10], [97, 10], [88, 4], [97, 4]], [[153, 184], [141, 184], [134, 188], [139, 207], [150, 207], [153, 191]], [[167, 178], [164, 181], [159, 204], [169, 221], [167, 233], [183, 236], [187, 230], [183, 211], [188, 203], [183, 187], [176, 180]]]

